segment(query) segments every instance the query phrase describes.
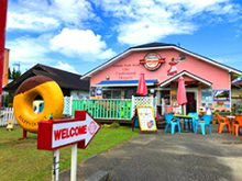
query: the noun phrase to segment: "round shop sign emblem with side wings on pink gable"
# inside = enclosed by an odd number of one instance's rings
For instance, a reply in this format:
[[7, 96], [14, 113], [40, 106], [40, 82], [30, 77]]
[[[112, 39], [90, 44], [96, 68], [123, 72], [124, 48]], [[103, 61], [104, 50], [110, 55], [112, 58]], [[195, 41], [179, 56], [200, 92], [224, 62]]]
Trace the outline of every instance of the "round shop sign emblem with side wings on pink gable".
[[165, 63], [165, 58], [162, 58], [156, 53], [147, 53], [144, 56], [144, 59], [140, 60], [140, 64], [142, 64], [150, 71], [157, 70], [163, 63]]

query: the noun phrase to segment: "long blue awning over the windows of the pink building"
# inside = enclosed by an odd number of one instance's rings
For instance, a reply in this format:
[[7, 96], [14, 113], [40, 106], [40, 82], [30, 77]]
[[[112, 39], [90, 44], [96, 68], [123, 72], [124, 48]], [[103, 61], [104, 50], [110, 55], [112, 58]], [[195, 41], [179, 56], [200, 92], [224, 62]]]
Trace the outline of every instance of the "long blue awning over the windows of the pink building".
[[[154, 86], [157, 83], [157, 79], [146, 79], [146, 86]], [[103, 80], [97, 83], [97, 87], [136, 87], [139, 80]]]

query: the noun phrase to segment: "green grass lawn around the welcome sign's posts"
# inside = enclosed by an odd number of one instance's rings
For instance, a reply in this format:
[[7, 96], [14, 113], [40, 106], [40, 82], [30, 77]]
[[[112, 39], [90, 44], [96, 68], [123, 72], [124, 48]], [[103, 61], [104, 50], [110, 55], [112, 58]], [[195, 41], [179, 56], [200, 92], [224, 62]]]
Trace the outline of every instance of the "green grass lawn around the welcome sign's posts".
[[[78, 149], [78, 163], [85, 159], [103, 152], [138, 135], [130, 127], [102, 127], [86, 149]], [[28, 139], [18, 140], [22, 129], [15, 127], [8, 132], [0, 127], [0, 180], [51, 180], [53, 152], [37, 150], [37, 135], [28, 133]], [[72, 147], [61, 149], [61, 171], [70, 168]]]

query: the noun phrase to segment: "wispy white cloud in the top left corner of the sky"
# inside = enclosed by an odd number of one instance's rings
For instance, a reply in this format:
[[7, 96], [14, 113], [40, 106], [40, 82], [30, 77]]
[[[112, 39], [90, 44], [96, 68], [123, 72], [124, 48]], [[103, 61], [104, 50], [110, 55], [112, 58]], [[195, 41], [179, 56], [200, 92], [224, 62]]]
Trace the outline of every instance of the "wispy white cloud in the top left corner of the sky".
[[61, 25], [82, 26], [96, 15], [88, 0], [22, 0], [11, 1], [8, 11], [9, 30], [45, 32]]

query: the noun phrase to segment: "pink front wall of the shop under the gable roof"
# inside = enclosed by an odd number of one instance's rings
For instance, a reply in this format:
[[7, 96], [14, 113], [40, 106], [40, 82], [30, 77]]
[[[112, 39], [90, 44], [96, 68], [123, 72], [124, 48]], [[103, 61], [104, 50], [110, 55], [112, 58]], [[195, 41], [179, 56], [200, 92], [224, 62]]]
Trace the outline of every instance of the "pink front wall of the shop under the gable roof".
[[[91, 77], [91, 86], [106, 80], [109, 76], [110, 80], [132, 80], [139, 79], [140, 73], [145, 73], [145, 79], [158, 79], [160, 82], [170, 78], [167, 76], [170, 59], [177, 58], [179, 52], [176, 49], [166, 49], [156, 52], [162, 57], [166, 58], [162, 67], [155, 71], [148, 71], [140, 64], [147, 52], [136, 52], [128, 55], [125, 58], [116, 61], [113, 65], [107, 67]], [[212, 66], [204, 60], [186, 55], [186, 60], [180, 61], [177, 66], [178, 72], [187, 70], [200, 78], [212, 82], [212, 89], [230, 89], [230, 80], [228, 70]]]

